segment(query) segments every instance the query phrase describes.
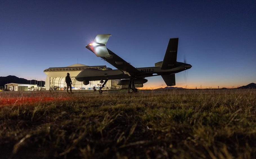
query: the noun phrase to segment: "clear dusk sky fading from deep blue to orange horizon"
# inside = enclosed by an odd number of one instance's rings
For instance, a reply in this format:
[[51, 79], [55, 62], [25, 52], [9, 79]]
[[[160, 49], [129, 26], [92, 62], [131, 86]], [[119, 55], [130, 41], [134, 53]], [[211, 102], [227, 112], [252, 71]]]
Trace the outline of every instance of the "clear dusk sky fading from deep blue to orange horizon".
[[[134, 67], [162, 61], [179, 38], [175, 74], [183, 88], [256, 83], [256, 1], [2, 1], [0, 76], [45, 79], [44, 69], [106, 65], [85, 46], [112, 34], [107, 48]], [[187, 80], [186, 80], [187, 79]], [[145, 88], [166, 84], [149, 77]]]

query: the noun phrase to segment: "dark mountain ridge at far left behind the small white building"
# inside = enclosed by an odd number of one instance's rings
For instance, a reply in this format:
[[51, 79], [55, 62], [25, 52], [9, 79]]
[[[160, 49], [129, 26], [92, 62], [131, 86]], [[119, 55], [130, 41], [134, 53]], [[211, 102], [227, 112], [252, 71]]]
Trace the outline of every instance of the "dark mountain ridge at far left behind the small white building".
[[[37, 80], [31, 80], [31, 84], [37, 84], [40, 85], [41, 81]], [[30, 80], [26, 80], [24, 78], [19, 78], [16, 76], [6, 76], [6, 77], [0, 77], [0, 86], [4, 86], [7, 83], [22, 83], [22, 84], [30, 84]], [[42, 87], [44, 86], [44, 81], [42, 81]]]

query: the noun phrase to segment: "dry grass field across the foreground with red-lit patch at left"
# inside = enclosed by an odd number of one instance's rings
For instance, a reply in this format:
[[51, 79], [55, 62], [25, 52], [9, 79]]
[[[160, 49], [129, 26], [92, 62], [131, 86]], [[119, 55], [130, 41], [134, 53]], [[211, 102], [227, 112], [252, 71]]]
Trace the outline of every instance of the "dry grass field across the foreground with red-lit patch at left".
[[256, 90], [0, 92], [0, 158], [256, 158]]

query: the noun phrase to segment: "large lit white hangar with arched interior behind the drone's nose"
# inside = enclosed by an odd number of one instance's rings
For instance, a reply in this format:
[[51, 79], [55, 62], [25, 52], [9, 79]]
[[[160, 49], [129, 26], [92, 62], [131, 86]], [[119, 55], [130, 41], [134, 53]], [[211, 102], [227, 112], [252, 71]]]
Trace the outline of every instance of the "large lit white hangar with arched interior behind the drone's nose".
[[[44, 73], [47, 75], [45, 79], [45, 88], [46, 90], [65, 90], [66, 82], [65, 77], [67, 73], [70, 74], [72, 81], [72, 89], [74, 90], [93, 90], [95, 86], [96, 89], [99, 89], [101, 83], [100, 81], [90, 81], [88, 85], [84, 85], [83, 82], [79, 82], [75, 77], [84, 69], [93, 68], [104, 70], [106, 66], [87, 66], [83, 64], [73, 64], [67, 67], [50, 67], [44, 70]], [[120, 86], [117, 83], [120, 80], [109, 80], [105, 85], [105, 89], [119, 89]]]

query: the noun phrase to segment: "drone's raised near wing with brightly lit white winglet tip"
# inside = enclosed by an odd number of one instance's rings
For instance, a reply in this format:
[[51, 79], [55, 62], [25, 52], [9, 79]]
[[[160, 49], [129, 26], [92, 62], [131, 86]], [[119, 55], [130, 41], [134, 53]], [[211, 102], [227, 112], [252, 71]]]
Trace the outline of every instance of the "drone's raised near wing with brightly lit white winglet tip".
[[113, 53], [111, 50], [106, 48], [106, 43], [109, 39], [110, 34], [98, 34], [93, 40], [93, 43], [86, 45], [86, 48], [91, 52], [95, 53], [97, 57], [101, 57], [106, 60], [109, 64], [113, 65], [117, 69], [123, 71], [125, 74], [133, 75], [138, 74], [140, 71], [133, 67], [131, 64], [123, 60], [121, 57]]

